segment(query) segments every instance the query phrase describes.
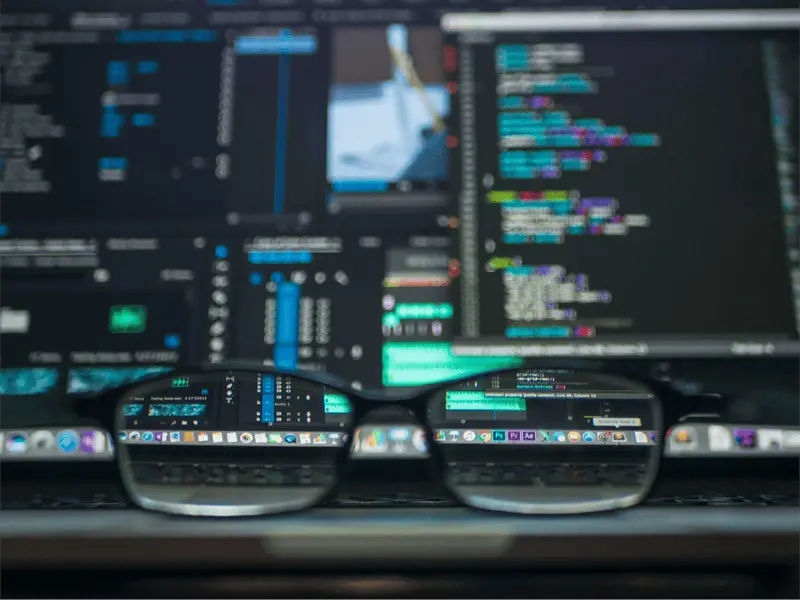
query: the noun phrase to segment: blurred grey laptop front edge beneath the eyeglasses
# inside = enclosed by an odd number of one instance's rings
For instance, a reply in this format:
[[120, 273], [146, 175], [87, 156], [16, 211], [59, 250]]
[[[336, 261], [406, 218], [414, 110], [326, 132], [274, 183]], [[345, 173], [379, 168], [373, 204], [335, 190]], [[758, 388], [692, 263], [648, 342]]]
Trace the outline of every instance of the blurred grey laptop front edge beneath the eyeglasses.
[[255, 519], [0, 513], [0, 567], [442, 569], [800, 563], [796, 508], [636, 508], [579, 517], [338, 509]]

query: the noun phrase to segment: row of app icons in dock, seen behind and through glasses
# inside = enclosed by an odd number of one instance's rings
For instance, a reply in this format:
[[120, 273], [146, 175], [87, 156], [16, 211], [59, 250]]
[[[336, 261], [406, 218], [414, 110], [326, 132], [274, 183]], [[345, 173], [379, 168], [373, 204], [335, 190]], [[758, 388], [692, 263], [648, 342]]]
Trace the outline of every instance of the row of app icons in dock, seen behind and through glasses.
[[[131, 434], [138, 433], [137, 435]], [[147, 433], [152, 434], [152, 439]], [[157, 441], [156, 433], [160, 433]], [[203, 437], [203, 434], [208, 436]], [[222, 441], [218, 440], [219, 435]], [[218, 444], [222, 446], [341, 446], [347, 436], [331, 432], [147, 432], [126, 431], [126, 443], [137, 444]], [[656, 443], [655, 432], [638, 430], [516, 430], [445, 429], [435, 433], [445, 444], [649, 444]], [[188, 437], [187, 437], [188, 436]], [[192, 438], [192, 436], [194, 436]], [[266, 436], [266, 438], [264, 437]], [[585, 437], [584, 437], [585, 436]], [[624, 437], [624, 441], [623, 438]], [[645, 437], [647, 441], [645, 441]], [[146, 439], [144, 439], [146, 438]], [[637, 441], [638, 438], [638, 441]], [[266, 442], [264, 441], [266, 439]], [[232, 441], [229, 441], [232, 440]], [[427, 444], [422, 429], [413, 426], [379, 425], [364, 427], [351, 442], [357, 458], [424, 458]], [[800, 457], [800, 427], [730, 425], [722, 423], [682, 423], [665, 437], [665, 454], [670, 458], [698, 457]], [[98, 430], [81, 428], [42, 428], [0, 430], [0, 460], [100, 459], [113, 457], [111, 436]]]

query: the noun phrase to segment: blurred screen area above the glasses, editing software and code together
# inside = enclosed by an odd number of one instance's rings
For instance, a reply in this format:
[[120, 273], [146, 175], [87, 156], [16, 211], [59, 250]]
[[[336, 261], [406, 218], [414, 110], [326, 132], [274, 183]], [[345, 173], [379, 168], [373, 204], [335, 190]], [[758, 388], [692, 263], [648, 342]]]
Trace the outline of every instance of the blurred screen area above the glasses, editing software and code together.
[[301, 4], [3, 3], [0, 395], [800, 354], [800, 13]]

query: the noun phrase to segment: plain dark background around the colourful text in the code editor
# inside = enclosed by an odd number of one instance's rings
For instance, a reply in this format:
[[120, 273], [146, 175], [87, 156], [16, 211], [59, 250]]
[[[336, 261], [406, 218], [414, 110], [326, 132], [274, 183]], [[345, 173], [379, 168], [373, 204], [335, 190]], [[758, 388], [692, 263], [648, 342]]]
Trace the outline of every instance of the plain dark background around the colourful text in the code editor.
[[[474, 46], [478, 168], [495, 176], [493, 189], [579, 189], [582, 197], [617, 198], [619, 214], [651, 219], [627, 236], [503, 245], [500, 207], [484, 203], [479, 263], [489, 258], [483, 240], [492, 238], [495, 256], [519, 255], [524, 264], [563, 265], [568, 273], [588, 275], [590, 288], [610, 291], [612, 301], [570, 305], [576, 325], [632, 320], [630, 329], [598, 328], [606, 339], [794, 335], [762, 39], [724, 32], [503, 38], [581, 43], [586, 66], [611, 66], [614, 76], [598, 79], [596, 95], [555, 95], [556, 109], [662, 140], [658, 148], [609, 148], [607, 162], [549, 181], [497, 177], [494, 46]], [[502, 277], [500, 271], [482, 275], [482, 335], [502, 336], [507, 326]]]

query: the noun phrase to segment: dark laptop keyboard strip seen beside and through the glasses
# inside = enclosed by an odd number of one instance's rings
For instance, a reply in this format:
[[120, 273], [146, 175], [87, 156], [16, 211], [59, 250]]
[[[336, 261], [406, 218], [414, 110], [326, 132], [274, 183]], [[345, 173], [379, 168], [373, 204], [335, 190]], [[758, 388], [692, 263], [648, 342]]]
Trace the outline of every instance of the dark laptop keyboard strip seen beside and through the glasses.
[[[454, 476], [461, 484], [503, 485], [608, 485], [632, 483], [644, 476], [641, 465], [597, 465], [597, 464], [537, 464], [537, 465], [485, 465], [462, 463], [451, 465]], [[254, 465], [248, 467], [226, 467], [224, 465], [197, 467], [195, 465], [144, 465], [138, 473], [152, 482], [190, 482], [203, 485], [305, 485], [319, 483], [320, 478], [333, 477], [330, 469], [320, 471], [308, 467]], [[772, 480], [758, 487], [758, 482], [748, 485], [747, 493], [736, 484], [720, 485], [716, 489], [707, 486], [705, 493], [700, 481], [666, 482], [670, 487], [657, 489], [646, 502], [649, 506], [788, 506], [800, 507], [800, 486], [795, 482]], [[675, 483], [680, 483], [675, 488]], [[714, 485], [714, 484], [712, 484]], [[404, 486], [401, 486], [404, 487]], [[376, 489], [374, 486], [372, 489]], [[732, 488], [739, 488], [732, 491]], [[354, 492], [352, 490], [370, 490]], [[377, 489], [387, 489], [382, 485]], [[408, 489], [406, 487], [406, 489]], [[424, 490], [423, 485], [413, 486]], [[99, 491], [102, 490], [102, 491]], [[358, 488], [345, 487], [343, 493], [329, 503], [331, 508], [390, 508], [390, 507], [448, 507], [454, 502], [444, 494], [428, 491], [373, 492], [363, 482]], [[688, 492], [688, 493], [687, 493]], [[115, 510], [129, 508], [129, 503], [118, 488], [106, 485], [84, 484], [80, 487], [59, 484], [5, 485], [0, 487], [0, 510]]]

